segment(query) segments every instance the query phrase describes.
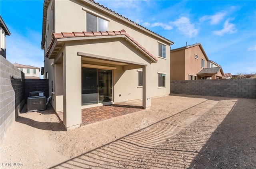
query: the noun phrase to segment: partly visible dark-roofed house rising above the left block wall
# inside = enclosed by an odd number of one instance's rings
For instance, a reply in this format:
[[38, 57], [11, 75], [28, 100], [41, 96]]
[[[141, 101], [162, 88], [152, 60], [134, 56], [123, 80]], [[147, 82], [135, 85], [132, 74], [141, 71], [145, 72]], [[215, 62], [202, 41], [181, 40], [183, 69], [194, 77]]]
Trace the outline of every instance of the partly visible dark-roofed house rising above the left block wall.
[[6, 40], [5, 40], [5, 36], [9, 35], [10, 36], [10, 31], [8, 30], [6, 24], [4, 23], [4, 20], [2, 19], [2, 17], [0, 16], [0, 47], [1, 47], [1, 51], [0, 51], [0, 55], [4, 58], [6, 58]]

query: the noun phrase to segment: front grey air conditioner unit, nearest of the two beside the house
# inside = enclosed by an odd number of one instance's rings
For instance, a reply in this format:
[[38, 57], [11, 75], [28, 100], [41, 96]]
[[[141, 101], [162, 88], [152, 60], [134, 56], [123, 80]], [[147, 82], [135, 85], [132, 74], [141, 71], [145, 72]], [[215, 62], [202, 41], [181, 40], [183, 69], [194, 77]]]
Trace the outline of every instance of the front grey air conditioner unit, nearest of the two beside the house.
[[46, 97], [45, 96], [31, 96], [28, 97], [28, 112], [45, 110]]

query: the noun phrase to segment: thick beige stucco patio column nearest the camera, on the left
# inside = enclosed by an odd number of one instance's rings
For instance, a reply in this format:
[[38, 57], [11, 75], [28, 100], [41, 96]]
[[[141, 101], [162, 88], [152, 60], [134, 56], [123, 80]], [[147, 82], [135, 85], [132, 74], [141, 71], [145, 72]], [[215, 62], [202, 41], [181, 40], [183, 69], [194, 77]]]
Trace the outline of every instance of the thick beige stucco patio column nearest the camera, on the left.
[[77, 128], [82, 123], [81, 110], [81, 56], [63, 56], [63, 123], [66, 130]]

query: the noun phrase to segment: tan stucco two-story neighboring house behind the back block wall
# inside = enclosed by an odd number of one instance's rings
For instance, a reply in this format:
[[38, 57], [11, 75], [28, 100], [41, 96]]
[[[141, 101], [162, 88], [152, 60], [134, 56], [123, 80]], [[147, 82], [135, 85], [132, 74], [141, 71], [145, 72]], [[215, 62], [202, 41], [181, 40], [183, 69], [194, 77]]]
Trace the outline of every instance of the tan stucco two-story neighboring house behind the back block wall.
[[222, 79], [220, 65], [210, 61], [201, 45], [196, 43], [170, 51], [171, 80]]

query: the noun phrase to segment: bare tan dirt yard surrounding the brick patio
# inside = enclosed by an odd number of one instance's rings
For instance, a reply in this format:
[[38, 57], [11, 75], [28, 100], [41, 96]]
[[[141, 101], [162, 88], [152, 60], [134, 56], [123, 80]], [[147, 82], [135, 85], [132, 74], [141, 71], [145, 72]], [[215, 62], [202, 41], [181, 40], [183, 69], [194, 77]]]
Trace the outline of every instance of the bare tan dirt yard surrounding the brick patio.
[[256, 99], [157, 97], [68, 132], [52, 109], [21, 113], [0, 151], [1, 169], [255, 169]]

